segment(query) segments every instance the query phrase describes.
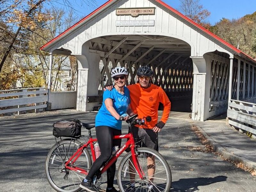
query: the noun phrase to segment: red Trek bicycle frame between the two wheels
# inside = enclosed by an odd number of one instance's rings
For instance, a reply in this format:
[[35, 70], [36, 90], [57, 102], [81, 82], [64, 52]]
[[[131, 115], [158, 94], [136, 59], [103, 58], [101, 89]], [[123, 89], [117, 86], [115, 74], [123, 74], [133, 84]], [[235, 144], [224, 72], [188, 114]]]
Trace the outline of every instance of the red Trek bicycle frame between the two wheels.
[[[118, 158], [127, 148], [131, 148], [132, 162], [133, 162], [133, 164], [134, 164], [134, 167], [135, 167], [136, 171], [137, 171], [138, 174], [139, 174], [140, 179], [143, 179], [144, 173], [142, 172], [142, 169], [141, 169], [141, 167], [140, 167], [138, 158], [137, 158], [136, 153], [135, 153], [135, 142], [134, 142], [134, 138], [133, 138], [132, 133], [128, 133], [128, 134], [125, 134], [125, 135], [116, 135], [116, 136], [114, 136], [113, 139], [128, 139], [128, 140], [127, 140], [127, 142], [116, 152], [116, 154], [108, 160], [108, 162], [107, 162], [107, 163], [103, 166], [103, 168], [100, 170], [100, 173], [102, 174], [103, 172], [107, 171], [107, 169], [117, 160], [117, 158]], [[68, 159], [68, 161], [65, 163], [66, 169], [73, 170], [73, 171], [76, 171], [76, 172], [79, 172], [79, 173], [82, 173], [82, 174], [87, 175], [88, 172], [87, 172], [86, 170], [81, 169], [81, 168], [79, 168], [79, 167], [76, 167], [76, 166], [74, 166], [74, 164], [75, 164], [76, 160], [79, 158], [79, 156], [83, 153], [84, 148], [87, 148], [88, 145], [90, 145], [90, 147], [91, 147], [93, 162], [96, 160], [96, 155], [95, 155], [95, 151], [94, 151], [94, 144], [93, 144], [93, 142], [96, 142], [96, 141], [97, 141], [97, 139], [90, 138], [87, 143], [85, 143], [83, 146], [79, 147], [79, 148], [77, 149], [76, 153], [75, 153], [70, 159]], [[71, 164], [72, 166], [70, 166], [70, 164]]]

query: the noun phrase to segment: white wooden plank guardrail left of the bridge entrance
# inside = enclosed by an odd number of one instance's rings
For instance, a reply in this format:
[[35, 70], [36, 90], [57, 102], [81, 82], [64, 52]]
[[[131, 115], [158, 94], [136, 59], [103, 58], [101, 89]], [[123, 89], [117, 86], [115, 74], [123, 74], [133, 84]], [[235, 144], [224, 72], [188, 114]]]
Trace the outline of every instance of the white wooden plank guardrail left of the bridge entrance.
[[47, 94], [47, 88], [42, 87], [0, 91], [0, 114], [43, 111], [47, 107]]

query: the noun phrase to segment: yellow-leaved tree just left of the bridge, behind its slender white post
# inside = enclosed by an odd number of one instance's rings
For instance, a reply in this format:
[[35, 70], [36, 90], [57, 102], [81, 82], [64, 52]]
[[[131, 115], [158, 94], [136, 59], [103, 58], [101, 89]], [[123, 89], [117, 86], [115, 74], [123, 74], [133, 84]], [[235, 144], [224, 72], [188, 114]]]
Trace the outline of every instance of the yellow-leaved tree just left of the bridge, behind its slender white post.
[[[40, 28], [36, 28], [26, 40], [26, 49], [15, 53], [12, 59], [12, 65], [20, 71], [20, 87], [42, 87], [49, 84], [50, 56], [48, 53], [41, 51], [40, 47], [58, 35], [64, 28], [70, 27], [77, 21], [74, 17], [71, 17], [73, 15], [72, 10], [66, 15], [62, 9], [50, 9], [47, 12], [52, 14], [53, 19], [42, 23]], [[57, 91], [58, 84], [63, 83], [64, 79], [62, 77], [65, 73], [63, 69], [70, 68], [71, 78], [64, 83], [70, 84], [70, 90], [75, 89], [76, 65], [76, 59], [73, 56], [54, 55], [51, 74], [52, 90]]]

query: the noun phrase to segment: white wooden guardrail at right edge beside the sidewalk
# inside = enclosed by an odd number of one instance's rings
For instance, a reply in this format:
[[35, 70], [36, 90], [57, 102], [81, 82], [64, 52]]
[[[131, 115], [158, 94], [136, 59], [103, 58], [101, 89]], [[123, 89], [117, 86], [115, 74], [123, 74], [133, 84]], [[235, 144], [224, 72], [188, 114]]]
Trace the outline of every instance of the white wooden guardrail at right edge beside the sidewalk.
[[256, 135], [256, 103], [230, 101], [228, 103], [228, 123]]

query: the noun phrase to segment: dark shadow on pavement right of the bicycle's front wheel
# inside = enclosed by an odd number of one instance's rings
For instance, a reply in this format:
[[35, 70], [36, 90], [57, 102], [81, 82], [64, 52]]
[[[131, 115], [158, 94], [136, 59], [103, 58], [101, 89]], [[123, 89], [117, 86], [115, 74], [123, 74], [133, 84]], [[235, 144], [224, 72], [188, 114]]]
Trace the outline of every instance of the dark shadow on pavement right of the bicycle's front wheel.
[[226, 176], [216, 176], [216, 177], [198, 177], [198, 178], [188, 178], [180, 179], [178, 181], [172, 182], [172, 192], [192, 192], [198, 191], [198, 186], [211, 185], [212, 183], [218, 183], [226, 181]]

